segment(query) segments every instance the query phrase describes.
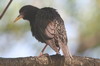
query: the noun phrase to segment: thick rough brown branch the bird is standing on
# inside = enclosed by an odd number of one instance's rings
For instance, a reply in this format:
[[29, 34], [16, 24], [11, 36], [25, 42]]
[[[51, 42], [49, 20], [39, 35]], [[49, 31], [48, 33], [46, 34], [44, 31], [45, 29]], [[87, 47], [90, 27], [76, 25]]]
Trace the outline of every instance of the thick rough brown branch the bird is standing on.
[[65, 60], [63, 56], [41, 56], [25, 58], [0, 58], [0, 66], [99, 66], [100, 59], [73, 56]]

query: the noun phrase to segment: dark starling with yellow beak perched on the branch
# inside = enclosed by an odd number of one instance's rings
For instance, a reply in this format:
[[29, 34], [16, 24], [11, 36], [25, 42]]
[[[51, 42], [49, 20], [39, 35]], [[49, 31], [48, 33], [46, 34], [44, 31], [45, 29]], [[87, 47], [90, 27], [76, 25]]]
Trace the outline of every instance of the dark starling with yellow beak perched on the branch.
[[19, 10], [19, 16], [14, 22], [21, 18], [29, 21], [32, 35], [39, 42], [45, 43], [40, 55], [43, 55], [44, 50], [49, 45], [56, 54], [59, 54], [61, 49], [65, 58], [73, 58], [67, 45], [64, 21], [56, 9], [25, 5]]

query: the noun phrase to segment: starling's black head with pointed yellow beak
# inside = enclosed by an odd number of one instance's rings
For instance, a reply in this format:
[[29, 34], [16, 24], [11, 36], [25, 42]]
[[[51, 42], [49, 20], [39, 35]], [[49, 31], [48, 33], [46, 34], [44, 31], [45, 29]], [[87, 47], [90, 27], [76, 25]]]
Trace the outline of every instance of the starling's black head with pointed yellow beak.
[[31, 6], [31, 5], [23, 6], [19, 10], [19, 16], [15, 19], [14, 22], [19, 20], [20, 18], [23, 18], [26, 20], [32, 20], [32, 19], [34, 19], [34, 16], [36, 15], [38, 10], [39, 10], [39, 8]]

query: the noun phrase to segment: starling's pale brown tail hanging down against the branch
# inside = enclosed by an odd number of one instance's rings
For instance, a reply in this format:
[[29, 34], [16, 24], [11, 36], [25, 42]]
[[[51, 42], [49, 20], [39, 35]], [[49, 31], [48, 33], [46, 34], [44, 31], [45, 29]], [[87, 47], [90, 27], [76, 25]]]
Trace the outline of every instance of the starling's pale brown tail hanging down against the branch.
[[59, 46], [60, 46], [65, 58], [73, 59], [73, 57], [68, 49], [68, 46], [66, 44], [64, 44], [63, 42], [59, 42]]

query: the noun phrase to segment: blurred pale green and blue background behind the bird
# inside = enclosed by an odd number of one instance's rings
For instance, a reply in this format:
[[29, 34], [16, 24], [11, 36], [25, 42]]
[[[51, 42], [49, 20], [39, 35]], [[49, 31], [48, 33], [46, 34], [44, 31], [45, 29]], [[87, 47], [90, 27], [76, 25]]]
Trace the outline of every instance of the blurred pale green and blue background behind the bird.
[[[0, 0], [0, 14], [9, 1]], [[24, 5], [57, 9], [65, 22], [71, 53], [100, 58], [100, 0], [13, 0], [0, 20], [0, 57], [38, 56], [45, 45], [32, 37], [28, 21], [13, 22]], [[50, 47], [45, 53], [55, 54]]]

